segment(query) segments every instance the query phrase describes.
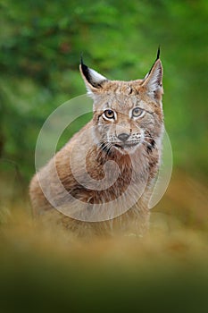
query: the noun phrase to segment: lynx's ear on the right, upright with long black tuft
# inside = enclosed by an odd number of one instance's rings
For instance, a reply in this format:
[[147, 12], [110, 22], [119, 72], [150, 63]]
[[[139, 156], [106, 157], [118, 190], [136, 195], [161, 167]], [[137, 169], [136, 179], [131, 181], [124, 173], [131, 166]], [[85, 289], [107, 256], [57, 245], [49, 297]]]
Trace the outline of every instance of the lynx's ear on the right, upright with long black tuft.
[[157, 52], [157, 58], [151, 70], [146, 74], [142, 86], [145, 87], [147, 94], [153, 97], [154, 100], [160, 101], [162, 99], [162, 62], [159, 59], [160, 48]]

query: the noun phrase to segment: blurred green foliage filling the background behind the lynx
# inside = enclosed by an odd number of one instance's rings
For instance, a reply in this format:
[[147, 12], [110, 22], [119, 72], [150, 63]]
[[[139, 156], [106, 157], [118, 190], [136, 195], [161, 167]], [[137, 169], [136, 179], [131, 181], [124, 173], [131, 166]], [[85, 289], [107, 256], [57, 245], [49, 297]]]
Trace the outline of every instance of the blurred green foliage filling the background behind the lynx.
[[133, 80], [148, 72], [160, 44], [174, 165], [206, 177], [206, 0], [0, 0], [0, 10], [0, 154], [23, 176], [34, 172], [48, 114], [85, 93], [81, 52], [104, 76]]

